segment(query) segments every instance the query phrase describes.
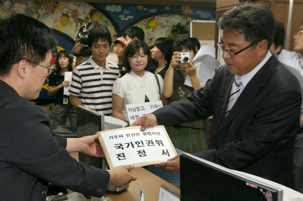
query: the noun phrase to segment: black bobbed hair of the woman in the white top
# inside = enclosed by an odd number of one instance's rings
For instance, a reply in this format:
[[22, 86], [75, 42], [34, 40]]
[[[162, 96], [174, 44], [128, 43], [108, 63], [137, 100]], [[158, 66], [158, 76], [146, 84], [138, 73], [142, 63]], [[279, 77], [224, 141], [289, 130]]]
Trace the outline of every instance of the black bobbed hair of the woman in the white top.
[[146, 43], [144, 41], [134, 40], [134, 41], [130, 42], [128, 44], [128, 46], [126, 47], [125, 57], [123, 60], [123, 66], [128, 73], [131, 71], [131, 67], [128, 62], [128, 57], [131, 57], [131, 56], [134, 56], [135, 54], [137, 54], [140, 51], [140, 48], [142, 48], [144, 54], [146, 54], [148, 56], [148, 61], [147, 61], [147, 65], [146, 65], [145, 69], [148, 68], [148, 66], [150, 64], [151, 53], [149, 51], [148, 46], [146, 45]]

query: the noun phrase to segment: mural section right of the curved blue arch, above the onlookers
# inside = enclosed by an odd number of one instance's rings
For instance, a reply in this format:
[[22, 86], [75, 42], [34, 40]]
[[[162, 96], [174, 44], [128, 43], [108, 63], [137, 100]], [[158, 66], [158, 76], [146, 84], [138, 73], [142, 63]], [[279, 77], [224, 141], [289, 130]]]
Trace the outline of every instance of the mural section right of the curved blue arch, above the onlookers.
[[[178, 37], [183, 30], [190, 31], [191, 19], [215, 19], [215, 8], [168, 6], [168, 5], [135, 5], [135, 4], [106, 4], [91, 3], [108, 17], [119, 36], [130, 26], [139, 26], [145, 32], [145, 38]], [[165, 30], [164, 33], [158, 33]], [[172, 34], [173, 32], [173, 34]], [[177, 34], [177, 35], [176, 35]]]

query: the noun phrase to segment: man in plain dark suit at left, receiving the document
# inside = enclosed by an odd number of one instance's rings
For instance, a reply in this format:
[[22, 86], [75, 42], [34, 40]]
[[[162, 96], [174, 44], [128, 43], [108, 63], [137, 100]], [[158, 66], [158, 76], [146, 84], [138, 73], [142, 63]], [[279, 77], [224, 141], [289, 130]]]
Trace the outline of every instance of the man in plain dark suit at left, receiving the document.
[[55, 138], [50, 119], [36, 99], [53, 69], [55, 36], [43, 23], [23, 14], [0, 19], [0, 200], [46, 200], [48, 182], [102, 197], [108, 184], [136, 180], [134, 166], [101, 170], [78, 163], [68, 152], [104, 156], [99, 134]]

